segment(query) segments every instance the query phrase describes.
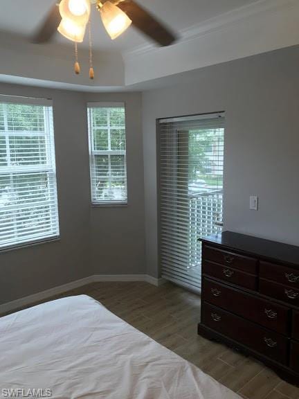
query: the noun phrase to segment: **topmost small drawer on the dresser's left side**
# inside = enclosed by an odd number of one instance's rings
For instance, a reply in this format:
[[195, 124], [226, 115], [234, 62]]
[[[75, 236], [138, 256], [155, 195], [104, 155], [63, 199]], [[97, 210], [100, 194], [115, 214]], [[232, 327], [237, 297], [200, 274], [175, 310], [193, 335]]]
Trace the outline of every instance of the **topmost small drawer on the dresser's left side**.
[[203, 258], [220, 263], [226, 267], [233, 267], [234, 269], [243, 270], [247, 273], [257, 274], [257, 260], [249, 258], [248, 256], [203, 245]]

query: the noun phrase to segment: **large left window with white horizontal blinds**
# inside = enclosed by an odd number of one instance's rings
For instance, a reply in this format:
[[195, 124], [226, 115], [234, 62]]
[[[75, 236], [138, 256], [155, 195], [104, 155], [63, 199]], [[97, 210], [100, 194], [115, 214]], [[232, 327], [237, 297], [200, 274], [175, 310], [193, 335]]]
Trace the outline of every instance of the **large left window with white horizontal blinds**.
[[51, 102], [0, 96], [0, 248], [57, 236]]

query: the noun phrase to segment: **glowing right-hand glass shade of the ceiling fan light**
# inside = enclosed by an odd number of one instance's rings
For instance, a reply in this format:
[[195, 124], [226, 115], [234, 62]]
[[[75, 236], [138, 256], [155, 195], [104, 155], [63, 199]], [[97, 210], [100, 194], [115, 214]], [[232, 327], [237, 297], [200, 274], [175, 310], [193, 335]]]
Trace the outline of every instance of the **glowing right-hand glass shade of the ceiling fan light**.
[[127, 14], [110, 1], [105, 1], [102, 5], [100, 8], [100, 15], [102, 17], [102, 23], [112, 40], [124, 33], [132, 24], [132, 20], [129, 19]]

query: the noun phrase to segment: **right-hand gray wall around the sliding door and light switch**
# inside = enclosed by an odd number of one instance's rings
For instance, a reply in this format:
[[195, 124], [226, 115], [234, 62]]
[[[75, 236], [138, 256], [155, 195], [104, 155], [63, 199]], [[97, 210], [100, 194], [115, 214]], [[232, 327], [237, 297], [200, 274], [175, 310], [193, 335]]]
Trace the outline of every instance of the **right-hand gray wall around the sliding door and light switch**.
[[[158, 276], [156, 118], [226, 111], [224, 229], [299, 245], [299, 47], [174, 76], [143, 94], [147, 272]], [[155, 85], [159, 85], [156, 81]], [[249, 195], [260, 197], [249, 210]]]

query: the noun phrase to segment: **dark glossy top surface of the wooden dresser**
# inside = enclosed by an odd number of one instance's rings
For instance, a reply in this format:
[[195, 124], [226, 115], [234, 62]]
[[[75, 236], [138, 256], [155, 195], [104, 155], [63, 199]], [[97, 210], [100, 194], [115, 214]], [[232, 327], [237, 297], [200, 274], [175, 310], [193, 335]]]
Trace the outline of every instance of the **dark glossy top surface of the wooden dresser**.
[[246, 252], [246, 254], [261, 257], [265, 260], [288, 263], [299, 269], [299, 247], [295, 245], [246, 236], [232, 231], [214, 234], [202, 238], [201, 241], [221, 245], [235, 251]]

